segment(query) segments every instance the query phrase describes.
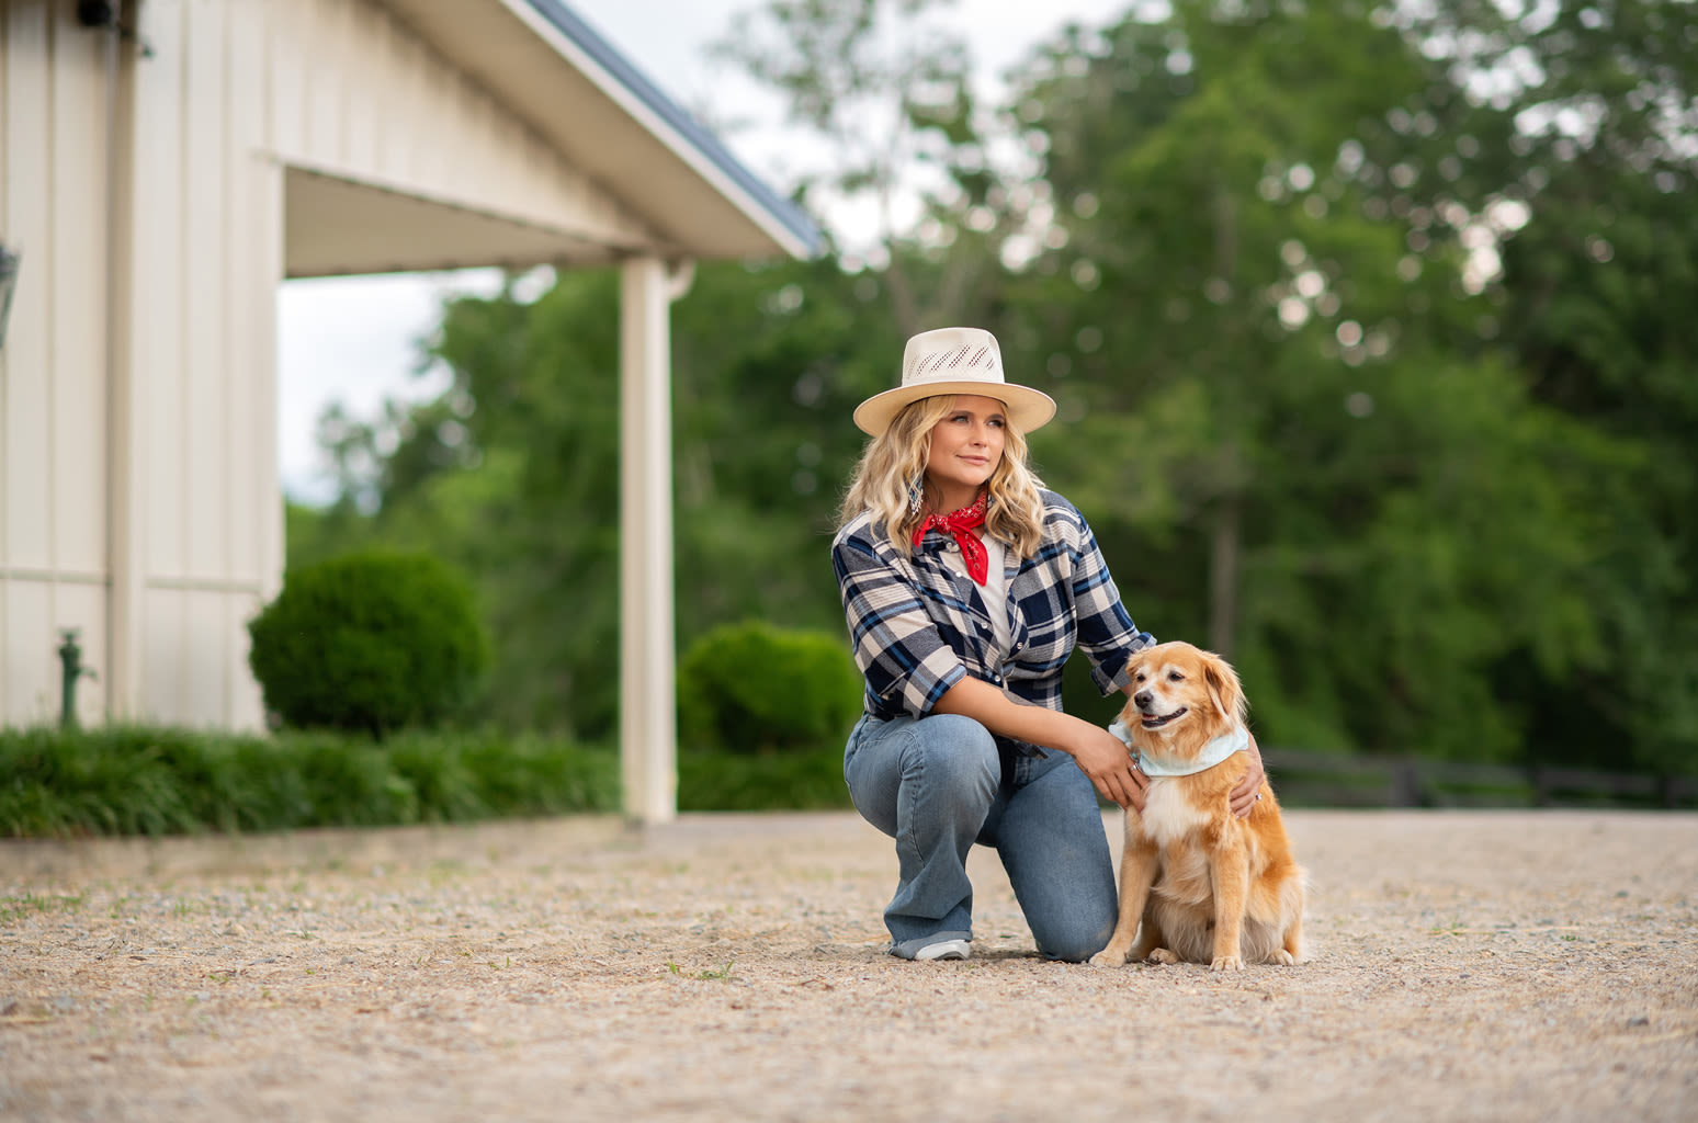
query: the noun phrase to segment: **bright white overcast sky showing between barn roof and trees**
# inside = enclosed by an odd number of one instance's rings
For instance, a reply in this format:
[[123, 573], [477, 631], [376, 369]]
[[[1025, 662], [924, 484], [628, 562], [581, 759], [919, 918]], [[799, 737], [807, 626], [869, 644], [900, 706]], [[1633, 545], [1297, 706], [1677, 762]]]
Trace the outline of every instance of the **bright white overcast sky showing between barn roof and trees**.
[[[754, 173], [788, 194], [795, 168], [781, 155], [778, 97], [706, 46], [727, 34], [737, 12], [757, 0], [565, 0], [603, 39], [674, 102], [713, 121], [737, 122], [723, 139]], [[942, 15], [964, 34], [981, 92], [995, 97], [998, 76], [1068, 22], [1100, 25], [1134, 0], [954, 0]], [[834, 216], [827, 216], [832, 221]], [[357, 418], [375, 418], [385, 398], [430, 399], [447, 387], [440, 370], [423, 370], [421, 340], [436, 324], [448, 292], [492, 292], [491, 270], [396, 274], [289, 280], [278, 311], [278, 471], [284, 491], [304, 503], [335, 498], [314, 432], [319, 415], [340, 403]]]

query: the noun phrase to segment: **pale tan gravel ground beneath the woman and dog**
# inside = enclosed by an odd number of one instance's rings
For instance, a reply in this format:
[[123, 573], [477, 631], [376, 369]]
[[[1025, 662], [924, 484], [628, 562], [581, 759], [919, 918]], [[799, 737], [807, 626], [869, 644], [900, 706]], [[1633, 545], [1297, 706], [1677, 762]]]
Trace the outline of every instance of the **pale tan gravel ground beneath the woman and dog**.
[[0, 843], [0, 1118], [1698, 1118], [1698, 815], [1287, 821], [1309, 962], [1223, 975], [1036, 958], [990, 851], [893, 960], [852, 814]]

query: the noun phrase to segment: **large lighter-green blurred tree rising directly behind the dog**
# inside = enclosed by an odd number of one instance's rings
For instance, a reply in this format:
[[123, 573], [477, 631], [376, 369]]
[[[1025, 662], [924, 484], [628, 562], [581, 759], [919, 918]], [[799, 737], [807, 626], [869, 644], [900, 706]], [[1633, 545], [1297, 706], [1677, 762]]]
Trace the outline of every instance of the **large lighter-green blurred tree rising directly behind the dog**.
[[1379, 124], [1443, 68], [1348, 5], [1082, 34], [1019, 104], [1066, 223], [1015, 302], [1068, 421], [1034, 447], [1274, 742], [1511, 756], [1493, 669], [1594, 661], [1589, 484], [1628, 454], [1479, 347], [1469, 224], [1435, 228], [1460, 204]]

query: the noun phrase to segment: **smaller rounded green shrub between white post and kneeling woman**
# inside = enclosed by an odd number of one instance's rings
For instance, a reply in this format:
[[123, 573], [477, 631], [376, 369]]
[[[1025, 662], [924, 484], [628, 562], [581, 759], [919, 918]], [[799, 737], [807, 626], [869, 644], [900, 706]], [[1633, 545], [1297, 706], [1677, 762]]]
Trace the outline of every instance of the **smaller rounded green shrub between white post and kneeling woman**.
[[723, 625], [679, 663], [679, 744], [725, 753], [841, 746], [861, 691], [861, 671], [835, 635], [759, 620]]

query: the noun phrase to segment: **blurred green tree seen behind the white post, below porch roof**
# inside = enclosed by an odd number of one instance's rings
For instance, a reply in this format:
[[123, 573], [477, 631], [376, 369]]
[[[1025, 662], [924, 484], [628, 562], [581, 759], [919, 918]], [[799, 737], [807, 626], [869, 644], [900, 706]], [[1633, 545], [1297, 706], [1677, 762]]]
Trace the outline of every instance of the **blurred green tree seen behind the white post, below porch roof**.
[[[841, 630], [825, 547], [859, 454], [842, 418], [900, 353], [857, 316], [878, 292], [829, 260], [711, 265], [674, 306], [681, 647], [751, 615]], [[433, 345], [445, 396], [345, 426], [355, 447], [392, 450], [372, 457], [372, 515], [345, 499], [323, 520], [477, 574], [503, 725], [599, 739], [616, 724], [616, 301], [610, 272], [562, 274], [530, 304], [453, 301]]]

